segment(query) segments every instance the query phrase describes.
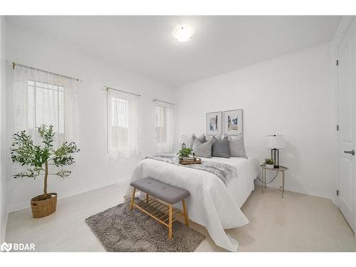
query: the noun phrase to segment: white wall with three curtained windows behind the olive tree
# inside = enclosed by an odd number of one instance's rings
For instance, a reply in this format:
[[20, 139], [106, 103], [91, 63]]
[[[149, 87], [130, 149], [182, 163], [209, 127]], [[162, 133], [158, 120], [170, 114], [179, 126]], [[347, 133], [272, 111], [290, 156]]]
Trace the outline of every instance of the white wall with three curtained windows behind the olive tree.
[[[112, 66], [92, 55], [85, 55], [61, 43], [47, 40], [37, 33], [23, 31], [9, 26], [9, 41], [6, 58], [27, 66], [50, 70], [63, 75], [80, 78], [78, 87], [79, 139], [80, 155], [68, 179], [52, 177], [49, 180], [49, 192], [58, 192], [58, 197], [68, 196], [88, 189], [112, 183], [126, 183], [130, 178], [138, 158], [109, 160], [106, 138], [106, 95], [105, 85], [121, 88], [142, 95], [142, 157], [154, 152], [155, 111], [153, 98], [173, 101], [173, 91], [153, 80], [142, 78], [122, 66]], [[8, 88], [11, 88], [13, 70], [6, 68]], [[8, 92], [9, 93], [9, 92]], [[8, 101], [12, 101], [8, 94]], [[11, 120], [13, 111], [8, 108], [9, 129], [13, 129]], [[9, 134], [11, 131], [9, 131]], [[8, 138], [8, 144], [10, 143]], [[11, 167], [10, 167], [11, 168]], [[10, 177], [10, 173], [8, 175]], [[14, 180], [9, 178], [9, 209], [28, 206], [31, 197], [42, 194], [43, 179], [36, 181]]]

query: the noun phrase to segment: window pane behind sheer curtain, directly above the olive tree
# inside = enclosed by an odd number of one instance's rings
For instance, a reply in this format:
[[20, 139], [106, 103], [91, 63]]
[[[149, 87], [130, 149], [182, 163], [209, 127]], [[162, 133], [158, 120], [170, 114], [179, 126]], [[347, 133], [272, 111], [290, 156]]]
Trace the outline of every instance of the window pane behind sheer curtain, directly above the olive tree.
[[28, 80], [28, 128], [34, 130], [43, 124], [64, 134], [64, 88]]

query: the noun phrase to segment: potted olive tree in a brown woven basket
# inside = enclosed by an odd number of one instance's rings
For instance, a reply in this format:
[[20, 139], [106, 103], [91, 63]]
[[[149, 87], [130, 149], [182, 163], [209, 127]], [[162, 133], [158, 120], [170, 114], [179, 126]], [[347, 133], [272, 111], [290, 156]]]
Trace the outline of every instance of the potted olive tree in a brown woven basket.
[[[11, 145], [12, 162], [28, 166], [25, 172], [15, 174], [15, 179], [25, 177], [36, 179], [38, 176], [44, 176], [43, 194], [31, 199], [33, 218], [48, 216], [56, 211], [57, 194], [47, 192], [48, 176], [68, 177], [70, 171], [60, 167], [73, 164], [73, 154], [79, 152], [75, 142], [64, 142], [55, 149], [53, 142], [56, 132], [53, 132], [52, 125], [42, 125], [37, 130], [42, 140], [41, 145], [35, 145], [33, 138], [26, 131], [16, 132], [12, 136]], [[53, 165], [56, 171], [49, 173], [48, 165]]]

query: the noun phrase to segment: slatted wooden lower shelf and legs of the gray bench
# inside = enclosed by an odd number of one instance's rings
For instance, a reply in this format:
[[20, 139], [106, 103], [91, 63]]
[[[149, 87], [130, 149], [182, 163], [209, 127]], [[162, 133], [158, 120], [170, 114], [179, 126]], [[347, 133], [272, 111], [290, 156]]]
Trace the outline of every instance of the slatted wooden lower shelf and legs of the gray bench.
[[151, 216], [153, 219], [158, 221], [160, 224], [168, 227], [168, 238], [172, 239], [172, 224], [177, 221], [179, 216], [184, 217], [185, 225], [189, 225], [189, 219], [187, 214], [187, 206], [184, 199], [182, 200], [183, 212], [179, 209], [173, 208], [171, 204], [166, 204], [159, 199], [155, 199], [146, 194], [145, 200], [139, 200], [135, 203], [135, 189], [132, 193], [132, 199], [130, 203], [130, 210], [137, 208], [143, 213]]

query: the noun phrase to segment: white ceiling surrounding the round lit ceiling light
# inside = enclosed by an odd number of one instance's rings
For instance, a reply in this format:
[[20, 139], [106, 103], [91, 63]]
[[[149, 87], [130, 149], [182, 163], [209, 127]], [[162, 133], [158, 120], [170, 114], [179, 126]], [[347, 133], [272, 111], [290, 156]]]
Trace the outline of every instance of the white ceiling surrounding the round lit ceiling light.
[[[66, 46], [179, 87], [325, 43], [340, 16], [9, 16]], [[179, 23], [194, 28], [186, 43]]]

